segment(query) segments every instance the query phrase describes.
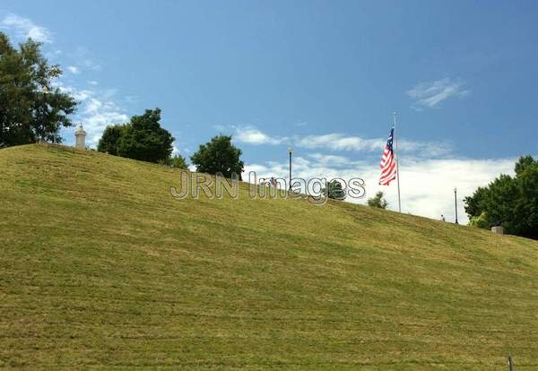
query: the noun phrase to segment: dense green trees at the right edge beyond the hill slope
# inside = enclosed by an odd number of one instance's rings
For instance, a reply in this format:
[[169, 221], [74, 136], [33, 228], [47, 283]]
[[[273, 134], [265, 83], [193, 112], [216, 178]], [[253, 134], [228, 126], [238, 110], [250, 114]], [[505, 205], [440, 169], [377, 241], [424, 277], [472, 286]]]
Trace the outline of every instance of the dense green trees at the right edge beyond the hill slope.
[[465, 197], [465, 212], [473, 226], [502, 225], [508, 234], [538, 239], [538, 160], [521, 157], [515, 172], [515, 177], [502, 174]]

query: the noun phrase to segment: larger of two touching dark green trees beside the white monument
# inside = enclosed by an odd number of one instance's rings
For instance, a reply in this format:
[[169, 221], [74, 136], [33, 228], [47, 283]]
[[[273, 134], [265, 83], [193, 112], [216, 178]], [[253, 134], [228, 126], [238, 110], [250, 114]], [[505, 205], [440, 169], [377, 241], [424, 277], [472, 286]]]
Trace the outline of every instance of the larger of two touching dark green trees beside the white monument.
[[[117, 155], [134, 160], [159, 162], [169, 159], [174, 137], [161, 127], [161, 109], [146, 109], [120, 130]], [[112, 136], [112, 135], [110, 135]], [[111, 138], [110, 142], [113, 142]]]

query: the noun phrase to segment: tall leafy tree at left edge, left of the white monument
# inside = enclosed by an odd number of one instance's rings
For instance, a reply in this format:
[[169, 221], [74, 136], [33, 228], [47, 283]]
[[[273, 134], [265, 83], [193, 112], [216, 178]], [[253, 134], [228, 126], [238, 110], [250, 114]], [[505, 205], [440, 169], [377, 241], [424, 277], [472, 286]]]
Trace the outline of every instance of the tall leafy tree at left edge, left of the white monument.
[[40, 47], [28, 39], [17, 50], [0, 32], [0, 147], [62, 142], [60, 129], [72, 125], [76, 101], [52, 88], [62, 70], [48, 65]]

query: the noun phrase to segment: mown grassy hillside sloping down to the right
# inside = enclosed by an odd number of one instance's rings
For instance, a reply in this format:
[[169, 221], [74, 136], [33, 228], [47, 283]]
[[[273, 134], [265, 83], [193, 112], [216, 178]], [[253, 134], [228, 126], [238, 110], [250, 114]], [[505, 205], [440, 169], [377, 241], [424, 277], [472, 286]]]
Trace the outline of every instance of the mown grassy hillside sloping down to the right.
[[538, 369], [538, 243], [178, 170], [0, 150], [0, 367]]

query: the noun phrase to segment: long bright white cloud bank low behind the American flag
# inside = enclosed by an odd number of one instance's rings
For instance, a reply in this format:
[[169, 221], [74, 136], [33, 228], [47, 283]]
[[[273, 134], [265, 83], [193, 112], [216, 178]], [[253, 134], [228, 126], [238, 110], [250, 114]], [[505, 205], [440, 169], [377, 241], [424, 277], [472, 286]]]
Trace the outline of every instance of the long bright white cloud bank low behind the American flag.
[[[349, 161], [338, 156], [324, 157], [311, 155], [310, 159], [297, 157], [293, 160], [293, 177], [310, 179], [313, 177], [350, 179], [360, 177], [366, 183], [367, 195], [348, 202], [366, 203], [377, 191], [383, 191], [389, 203], [388, 208], [397, 211], [397, 188], [394, 181], [390, 186], [378, 186], [379, 168], [377, 163]], [[400, 164], [402, 211], [432, 219], [445, 215], [448, 221], [455, 218], [454, 187], [458, 189], [458, 219], [466, 223], [463, 199], [473, 194], [478, 186], [485, 186], [499, 174], [512, 174], [516, 159], [446, 159], [446, 160], [405, 160]], [[247, 164], [244, 179], [248, 172], [255, 171], [258, 177], [288, 177], [286, 161], [269, 161], [265, 164]]]

